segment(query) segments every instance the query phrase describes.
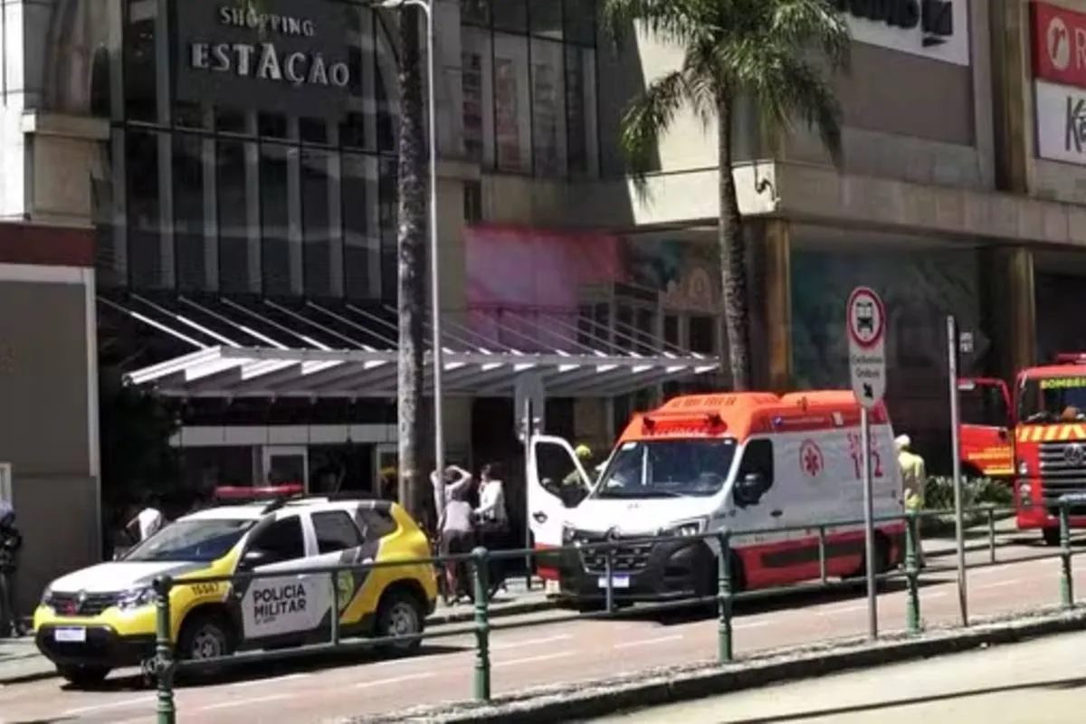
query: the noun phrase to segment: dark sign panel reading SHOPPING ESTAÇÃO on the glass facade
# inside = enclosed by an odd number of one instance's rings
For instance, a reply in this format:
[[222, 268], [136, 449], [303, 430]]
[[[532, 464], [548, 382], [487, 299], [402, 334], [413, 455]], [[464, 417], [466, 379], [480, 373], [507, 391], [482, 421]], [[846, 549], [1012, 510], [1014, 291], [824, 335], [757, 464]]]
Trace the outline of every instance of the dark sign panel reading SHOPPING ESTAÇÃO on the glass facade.
[[[308, 116], [342, 112], [349, 5], [318, 0], [178, 2], [177, 98]], [[355, 11], [356, 12], [356, 11]]]

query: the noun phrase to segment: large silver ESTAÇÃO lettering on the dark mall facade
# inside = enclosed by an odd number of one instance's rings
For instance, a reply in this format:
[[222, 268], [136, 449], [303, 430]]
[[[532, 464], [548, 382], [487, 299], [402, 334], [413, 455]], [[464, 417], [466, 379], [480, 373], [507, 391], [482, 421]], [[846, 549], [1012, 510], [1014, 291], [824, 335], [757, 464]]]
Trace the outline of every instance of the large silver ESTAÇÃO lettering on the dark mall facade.
[[245, 78], [275, 80], [295, 86], [336, 86], [351, 81], [346, 63], [329, 63], [317, 52], [280, 53], [270, 42], [193, 42], [189, 62], [199, 71], [233, 73]]

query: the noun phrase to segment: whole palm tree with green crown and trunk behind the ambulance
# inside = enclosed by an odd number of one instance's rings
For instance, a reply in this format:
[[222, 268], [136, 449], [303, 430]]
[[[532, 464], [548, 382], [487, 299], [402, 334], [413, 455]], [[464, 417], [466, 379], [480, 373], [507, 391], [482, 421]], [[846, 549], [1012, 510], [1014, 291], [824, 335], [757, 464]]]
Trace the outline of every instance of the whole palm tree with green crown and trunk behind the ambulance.
[[750, 321], [745, 242], [732, 179], [736, 102], [753, 101], [762, 126], [787, 131], [798, 119], [841, 162], [841, 106], [828, 75], [847, 71], [851, 36], [832, 0], [604, 0], [616, 40], [637, 26], [679, 46], [683, 62], [649, 84], [626, 110], [621, 145], [640, 193], [647, 192], [657, 141], [690, 107], [718, 127], [719, 250], [732, 383], [750, 389]]

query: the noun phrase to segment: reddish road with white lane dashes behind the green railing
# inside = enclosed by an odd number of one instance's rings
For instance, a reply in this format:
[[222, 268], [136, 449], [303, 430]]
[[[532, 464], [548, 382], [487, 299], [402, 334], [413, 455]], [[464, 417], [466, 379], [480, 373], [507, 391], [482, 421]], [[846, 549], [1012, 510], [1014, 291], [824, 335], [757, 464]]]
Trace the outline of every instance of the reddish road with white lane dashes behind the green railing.
[[[999, 555], [1011, 559], [1051, 550], [1015, 546], [1001, 549]], [[983, 551], [970, 556], [977, 561], [986, 558]], [[1059, 566], [1057, 559], [1050, 559], [972, 571], [971, 614], [983, 617], [1057, 604]], [[1081, 589], [1086, 593], [1086, 557], [1076, 558], [1075, 570], [1084, 586]], [[929, 625], [955, 623], [958, 597], [954, 573], [926, 577], [921, 592], [924, 621]], [[881, 595], [879, 612], [883, 630], [904, 628], [905, 592], [897, 587]], [[629, 620], [548, 623], [548, 619], [564, 614], [547, 611], [495, 620], [495, 625], [502, 626], [514, 622], [532, 625], [492, 634], [494, 694], [716, 657], [715, 620], [639, 615]], [[752, 601], [738, 607], [736, 615], [738, 655], [862, 635], [867, 631], [862, 592]], [[354, 655], [274, 668], [250, 666], [229, 678], [179, 688], [178, 720], [220, 724], [317, 722], [466, 699], [472, 691], [472, 646], [473, 637], [462, 634], [435, 639], [424, 653], [412, 658], [379, 660]], [[0, 688], [0, 722], [150, 724], [154, 721], [154, 691], [141, 689], [138, 679], [123, 674], [111, 677], [97, 691], [68, 690], [58, 679]]]

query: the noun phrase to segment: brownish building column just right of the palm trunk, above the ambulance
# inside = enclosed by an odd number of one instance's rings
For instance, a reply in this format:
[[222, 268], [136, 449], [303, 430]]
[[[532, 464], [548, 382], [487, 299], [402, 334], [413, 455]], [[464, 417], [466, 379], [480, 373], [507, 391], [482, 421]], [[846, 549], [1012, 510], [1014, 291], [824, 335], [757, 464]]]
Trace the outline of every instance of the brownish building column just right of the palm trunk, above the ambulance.
[[786, 392], [792, 389], [792, 226], [784, 219], [770, 219], [765, 229], [765, 379], [769, 390]]

